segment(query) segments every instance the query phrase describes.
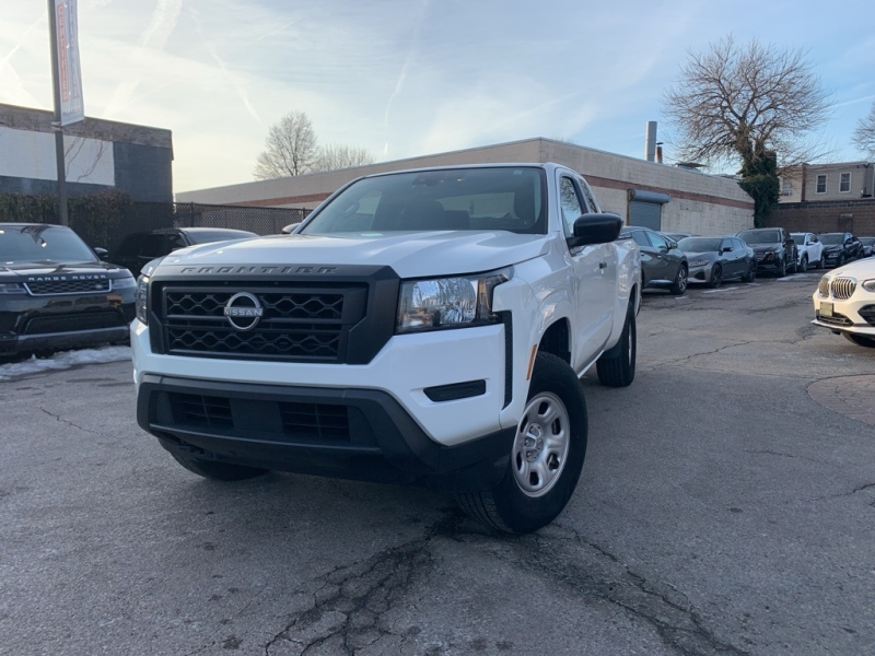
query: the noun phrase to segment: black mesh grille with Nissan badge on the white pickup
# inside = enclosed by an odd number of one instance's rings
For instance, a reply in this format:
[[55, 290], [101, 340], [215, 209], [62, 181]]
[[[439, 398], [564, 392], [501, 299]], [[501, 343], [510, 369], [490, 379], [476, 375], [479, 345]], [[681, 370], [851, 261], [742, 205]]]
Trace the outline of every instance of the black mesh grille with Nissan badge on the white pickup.
[[[258, 300], [262, 314], [224, 315], [238, 292]], [[160, 319], [170, 354], [287, 362], [343, 362], [346, 337], [365, 313], [366, 285], [163, 289]], [[250, 302], [242, 306], [252, 307]], [[243, 329], [240, 328], [243, 327]]]

